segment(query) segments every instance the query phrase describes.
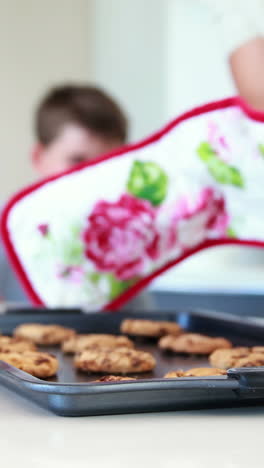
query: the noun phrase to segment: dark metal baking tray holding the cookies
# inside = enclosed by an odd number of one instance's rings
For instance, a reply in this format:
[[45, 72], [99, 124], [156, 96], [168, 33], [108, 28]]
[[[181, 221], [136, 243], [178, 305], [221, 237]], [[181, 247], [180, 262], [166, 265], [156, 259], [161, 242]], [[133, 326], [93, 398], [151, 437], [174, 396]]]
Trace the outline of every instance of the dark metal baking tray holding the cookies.
[[[118, 333], [124, 318], [177, 321], [188, 331], [225, 336], [234, 345], [263, 345], [264, 325], [218, 312], [118, 312], [83, 313], [79, 309], [17, 309], [0, 316], [0, 330], [11, 334], [20, 323], [57, 323], [82, 333]], [[58, 355], [56, 378], [40, 380], [0, 361], [0, 384], [61, 416], [171, 411], [195, 408], [264, 404], [264, 367], [230, 369], [227, 376], [163, 379], [168, 370], [208, 366], [206, 357], [163, 354], [151, 340], [137, 340], [137, 347], [157, 358], [153, 373], [138, 375], [131, 382], [94, 382], [98, 375], [73, 369], [72, 357], [58, 348], [45, 347]]]

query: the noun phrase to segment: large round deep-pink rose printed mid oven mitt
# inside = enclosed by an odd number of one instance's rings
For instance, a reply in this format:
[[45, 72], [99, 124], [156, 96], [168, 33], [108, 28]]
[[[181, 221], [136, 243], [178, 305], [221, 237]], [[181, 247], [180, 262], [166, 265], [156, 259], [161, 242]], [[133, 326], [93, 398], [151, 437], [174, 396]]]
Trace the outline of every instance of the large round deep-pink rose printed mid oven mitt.
[[146, 201], [122, 195], [117, 202], [99, 201], [83, 233], [85, 255], [98, 271], [128, 280], [143, 272], [145, 261], [158, 255], [156, 211]]

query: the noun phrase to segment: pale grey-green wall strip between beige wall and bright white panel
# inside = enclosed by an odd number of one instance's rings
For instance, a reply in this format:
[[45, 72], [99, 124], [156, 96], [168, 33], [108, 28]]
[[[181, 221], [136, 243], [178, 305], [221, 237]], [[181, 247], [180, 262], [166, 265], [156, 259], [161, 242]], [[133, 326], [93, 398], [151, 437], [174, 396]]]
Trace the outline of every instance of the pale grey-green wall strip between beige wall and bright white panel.
[[166, 0], [93, 0], [92, 77], [120, 100], [131, 139], [166, 120]]

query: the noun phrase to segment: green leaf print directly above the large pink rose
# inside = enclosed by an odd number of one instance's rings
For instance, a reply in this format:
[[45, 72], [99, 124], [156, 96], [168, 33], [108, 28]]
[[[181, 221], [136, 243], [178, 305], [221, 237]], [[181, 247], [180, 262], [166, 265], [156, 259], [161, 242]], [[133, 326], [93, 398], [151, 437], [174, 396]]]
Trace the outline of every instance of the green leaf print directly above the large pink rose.
[[148, 200], [158, 206], [166, 198], [168, 191], [168, 176], [158, 164], [147, 161], [134, 161], [127, 190], [132, 195]]

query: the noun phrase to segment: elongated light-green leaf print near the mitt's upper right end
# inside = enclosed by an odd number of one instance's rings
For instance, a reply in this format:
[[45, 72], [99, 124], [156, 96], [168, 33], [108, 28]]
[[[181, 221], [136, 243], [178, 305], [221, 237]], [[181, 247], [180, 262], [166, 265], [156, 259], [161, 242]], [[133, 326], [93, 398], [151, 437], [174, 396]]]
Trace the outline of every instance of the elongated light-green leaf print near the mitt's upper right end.
[[201, 143], [197, 152], [200, 159], [206, 164], [211, 176], [217, 182], [220, 184], [235, 185], [240, 188], [244, 187], [244, 180], [239, 170], [219, 159], [209, 143]]

